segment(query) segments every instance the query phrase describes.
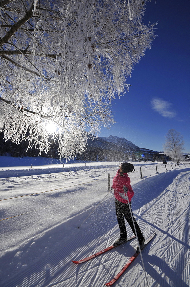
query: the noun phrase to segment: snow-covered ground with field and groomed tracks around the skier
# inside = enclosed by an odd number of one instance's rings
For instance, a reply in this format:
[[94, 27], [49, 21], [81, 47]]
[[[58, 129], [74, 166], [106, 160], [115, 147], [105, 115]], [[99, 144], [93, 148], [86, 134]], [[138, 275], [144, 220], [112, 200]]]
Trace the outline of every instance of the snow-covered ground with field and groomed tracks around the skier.
[[[63, 167], [35, 160], [0, 157], [0, 286], [104, 286], [133, 255], [136, 240], [79, 265], [71, 260], [119, 236], [113, 192], [107, 192], [108, 173], [112, 182], [119, 163]], [[142, 253], [149, 287], [188, 287], [190, 165], [168, 163], [166, 171], [161, 163], [133, 164], [134, 216], [145, 237], [157, 233]], [[113, 286], [147, 286], [140, 256]]]

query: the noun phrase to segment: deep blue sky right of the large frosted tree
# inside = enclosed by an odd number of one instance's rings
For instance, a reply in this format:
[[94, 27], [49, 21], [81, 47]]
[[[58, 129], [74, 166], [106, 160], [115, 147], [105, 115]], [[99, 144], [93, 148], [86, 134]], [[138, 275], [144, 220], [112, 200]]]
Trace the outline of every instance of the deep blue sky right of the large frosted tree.
[[190, 153], [190, 8], [186, 0], [147, 2], [145, 23], [158, 22], [157, 38], [136, 64], [129, 92], [113, 101], [116, 123], [100, 137], [125, 137], [141, 148], [163, 151], [175, 129]]

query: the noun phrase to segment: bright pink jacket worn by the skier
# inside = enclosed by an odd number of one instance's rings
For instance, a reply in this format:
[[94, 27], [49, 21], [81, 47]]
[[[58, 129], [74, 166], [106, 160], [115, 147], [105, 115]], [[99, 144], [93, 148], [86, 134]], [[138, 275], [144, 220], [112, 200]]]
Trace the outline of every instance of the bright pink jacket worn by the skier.
[[[126, 193], [124, 193], [123, 185], [125, 185], [128, 188], [127, 196], [129, 198], [129, 202], [131, 202], [131, 198], [134, 195], [134, 191], [131, 187], [131, 180], [128, 177], [127, 173], [123, 173], [123, 176], [120, 175], [120, 170], [118, 169], [115, 177], [113, 178], [113, 185], [112, 188], [114, 190], [114, 196], [117, 200], [128, 203], [126, 198]], [[121, 193], [121, 195], [120, 195]]]

